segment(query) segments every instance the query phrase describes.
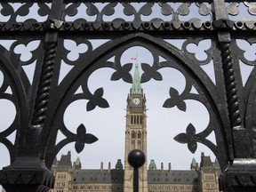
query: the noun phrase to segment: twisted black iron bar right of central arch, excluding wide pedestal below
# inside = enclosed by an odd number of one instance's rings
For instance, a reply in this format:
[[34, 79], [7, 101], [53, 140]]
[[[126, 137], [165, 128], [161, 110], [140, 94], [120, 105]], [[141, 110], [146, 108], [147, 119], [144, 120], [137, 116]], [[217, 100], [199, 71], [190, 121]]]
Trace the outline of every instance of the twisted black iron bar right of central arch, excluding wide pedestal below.
[[237, 92], [236, 76], [238, 75], [239, 71], [237, 71], [234, 67], [234, 61], [232, 59], [230, 50], [230, 30], [232, 30], [234, 22], [232, 20], [228, 20], [224, 0], [214, 0], [213, 2], [216, 18], [214, 23], [216, 28], [219, 29], [218, 40], [228, 104], [229, 124], [232, 132], [234, 150], [233, 154], [230, 154], [229, 160], [233, 161], [234, 158], [250, 157], [252, 154], [252, 149], [250, 148], [251, 144], [248, 133], [244, 127], [240, 106], [240, 97]]

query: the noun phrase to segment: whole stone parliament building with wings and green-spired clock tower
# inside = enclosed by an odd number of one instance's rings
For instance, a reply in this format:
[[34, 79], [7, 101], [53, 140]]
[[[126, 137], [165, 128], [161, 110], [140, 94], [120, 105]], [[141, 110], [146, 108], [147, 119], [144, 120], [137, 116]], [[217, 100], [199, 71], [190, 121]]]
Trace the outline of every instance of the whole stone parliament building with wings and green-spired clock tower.
[[193, 158], [190, 170], [172, 170], [169, 163], [157, 168], [154, 160], [147, 162], [147, 115], [146, 96], [140, 84], [138, 64], [135, 66], [132, 88], [127, 98], [124, 164], [118, 159], [115, 167], [108, 169], [82, 169], [79, 157], [71, 162], [71, 152], [62, 155], [52, 165], [55, 184], [52, 192], [133, 192], [133, 168], [127, 161], [132, 149], [138, 148], [146, 155], [146, 162], [139, 168], [140, 192], [218, 192], [220, 165], [210, 156], [201, 154], [200, 164]]

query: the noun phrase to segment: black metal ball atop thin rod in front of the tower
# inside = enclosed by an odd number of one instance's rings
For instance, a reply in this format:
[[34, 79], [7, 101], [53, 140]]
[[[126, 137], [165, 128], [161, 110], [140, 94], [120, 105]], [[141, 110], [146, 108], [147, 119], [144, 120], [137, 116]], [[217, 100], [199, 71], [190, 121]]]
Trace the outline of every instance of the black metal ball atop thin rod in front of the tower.
[[128, 163], [139, 168], [145, 163], [145, 154], [140, 149], [133, 149], [128, 155]]

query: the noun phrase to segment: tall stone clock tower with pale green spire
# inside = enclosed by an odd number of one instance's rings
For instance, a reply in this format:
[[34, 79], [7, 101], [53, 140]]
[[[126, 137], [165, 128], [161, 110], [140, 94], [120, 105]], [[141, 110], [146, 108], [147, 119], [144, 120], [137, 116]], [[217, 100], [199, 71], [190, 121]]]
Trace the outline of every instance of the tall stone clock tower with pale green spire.
[[139, 191], [148, 192], [146, 97], [141, 88], [137, 63], [126, 107], [124, 192], [133, 192], [133, 168], [127, 159], [130, 151], [135, 148], [142, 150], [146, 156], [145, 164], [139, 168]]

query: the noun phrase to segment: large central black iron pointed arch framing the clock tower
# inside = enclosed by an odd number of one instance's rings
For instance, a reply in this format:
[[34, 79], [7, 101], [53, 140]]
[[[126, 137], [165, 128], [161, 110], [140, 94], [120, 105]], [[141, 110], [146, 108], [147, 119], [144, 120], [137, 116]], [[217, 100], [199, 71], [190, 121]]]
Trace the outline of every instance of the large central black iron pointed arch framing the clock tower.
[[[199, 137], [197, 138], [200, 138], [200, 140], [197, 140], [197, 142], [202, 142], [208, 148], [211, 148], [212, 152], [219, 159], [219, 161], [223, 163], [220, 164], [220, 166], [223, 167], [224, 164], [228, 164], [228, 159], [229, 156], [232, 156], [230, 154], [232, 154], [233, 149], [231, 148], [232, 145], [230, 144], [232, 142], [230, 130], [227, 128], [224, 129], [225, 126], [228, 126], [227, 113], [225, 110], [221, 110], [221, 108], [218, 107], [220, 100], [223, 100], [222, 96], [219, 95], [220, 92], [217, 92], [216, 86], [212, 83], [211, 78], [205, 74], [204, 70], [200, 68], [200, 66], [198, 66], [195, 61], [184, 57], [182, 52], [180, 52], [180, 50], [171, 44], [168, 44], [159, 38], [155, 38], [154, 36], [149, 36], [148, 34], [144, 33], [130, 34], [116, 38], [112, 41], [108, 41], [107, 43], [102, 44], [99, 48], [95, 49], [91, 57], [88, 57], [88, 60], [83, 60], [83, 64], [77, 63], [76, 66], [72, 68], [68, 75], [65, 76], [61, 81], [59, 87], [53, 91], [60, 92], [59, 90], [62, 90], [62, 92], [56, 94], [56, 100], [59, 103], [57, 103], [57, 105], [55, 104], [54, 108], [49, 111], [48, 120], [54, 119], [54, 116], [60, 116], [59, 113], [61, 112], [63, 113], [65, 109], [65, 105], [63, 106], [63, 103], [65, 102], [63, 102], [63, 100], [65, 100], [65, 98], [71, 97], [70, 95], [78, 88], [78, 82], [82, 82], [81, 79], [83, 76], [89, 77], [92, 72], [98, 68], [104, 67], [116, 69], [115, 66], [113, 66], [110, 62], [104, 60], [113, 57], [115, 52], [120, 48], [127, 49], [132, 46], [143, 46], [148, 50], [153, 51], [160, 50], [164, 55], [166, 55], [166, 57], [168, 57], [168, 59], [172, 61], [171, 66], [169, 67], [178, 68], [180, 71], [186, 73], [185, 75], [183, 74], [184, 76], [188, 75], [193, 79], [193, 81], [196, 82], [196, 86], [200, 87], [201, 92], [204, 93], [204, 98], [207, 99], [207, 106], [205, 107], [211, 108], [212, 114], [214, 114], [210, 116], [210, 118], [214, 117], [217, 120], [217, 124], [214, 124], [214, 127], [208, 127], [204, 132], [200, 132], [198, 134]], [[102, 65], [102, 63], [104, 63], [104, 65]], [[163, 68], [165, 67], [168, 66], [163, 66]], [[124, 78], [124, 76], [122, 76], [122, 78], [124, 81], [127, 81], [127, 78]], [[87, 79], [85, 79], [85, 83], [87, 83]], [[210, 122], [211, 121], [212, 120], [210, 119]], [[52, 122], [53, 121], [50, 120], [45, 122], [45, 124], [54, 127]], [[220, 151], [220, 148], [217, 150], [217, 147], [211, 141], [206, 140], [206, 137], [211, 133], [210, 129], [214, 129], [216, 133], [217, 146], [225, 146], [225, 148], [221, 148], [222, 151]], [[54, 132], [57, 132], [57, 130]], [[44, 135], [49, 134], [45, 133]], [[50, 138], [47, 138], [47, 140], [50, 140]], [[55, 149], [55, 151], [52, 153], [54, 154], [53, 156], [57, 155], [58, 151], [59, 149]]]

